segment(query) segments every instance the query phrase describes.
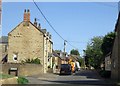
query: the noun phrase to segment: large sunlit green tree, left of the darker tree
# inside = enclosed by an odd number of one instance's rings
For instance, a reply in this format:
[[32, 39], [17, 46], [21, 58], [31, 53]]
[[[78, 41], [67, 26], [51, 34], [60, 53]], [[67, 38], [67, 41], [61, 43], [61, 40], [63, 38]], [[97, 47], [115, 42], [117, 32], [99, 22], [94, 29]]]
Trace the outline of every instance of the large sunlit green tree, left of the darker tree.
[[93, 66], [96, 69], [100, 68], [102, 62], [102, 55], [103, 55], [101, 51], [102, 43], [103, 43], [103, 37], [97, 36], [97, 37], [93, 37], [90, 43], [87, 44], [87, 48], [86, 50], [84, 50], [86, 66], [88, 67]]

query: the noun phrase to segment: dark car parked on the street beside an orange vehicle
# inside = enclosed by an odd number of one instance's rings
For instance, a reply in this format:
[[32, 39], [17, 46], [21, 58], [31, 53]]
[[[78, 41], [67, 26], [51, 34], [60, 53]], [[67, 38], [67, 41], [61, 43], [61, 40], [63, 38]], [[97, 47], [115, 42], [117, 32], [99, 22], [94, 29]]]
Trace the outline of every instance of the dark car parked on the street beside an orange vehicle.
[[72, 69], [70, 64], [61, 64], [60, 75], [62, 74], [69, 74], [69, 75], [72, 74]]

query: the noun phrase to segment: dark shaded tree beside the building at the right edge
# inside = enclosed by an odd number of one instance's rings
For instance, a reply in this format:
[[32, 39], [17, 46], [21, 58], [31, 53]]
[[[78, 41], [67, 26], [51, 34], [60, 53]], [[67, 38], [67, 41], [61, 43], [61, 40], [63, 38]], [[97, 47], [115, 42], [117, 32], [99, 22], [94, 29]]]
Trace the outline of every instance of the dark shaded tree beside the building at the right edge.
[[103, 56], [105, 57], [109, 52], [112, 51], [112, 47], [114, 44], [114, 39], [115, 39], [115, 32], [110, 32], [105, 37], [103, 38], [103, 43], [101, 46], [101, 50], [103, 52]]

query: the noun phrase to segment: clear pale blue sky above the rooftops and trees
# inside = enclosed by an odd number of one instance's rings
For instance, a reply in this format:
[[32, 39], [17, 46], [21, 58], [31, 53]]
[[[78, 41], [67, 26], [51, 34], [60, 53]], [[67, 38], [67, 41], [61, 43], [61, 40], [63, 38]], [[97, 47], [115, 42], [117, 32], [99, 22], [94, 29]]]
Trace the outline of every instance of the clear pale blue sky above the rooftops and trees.
[[[95, 36], [104, 36], [114, 30], [117, 2], [37, 2], [54, 29], [70, 44], [66, 52], [78, 49], [83, 55], [87, 43]], [[33, 2], [2, 3], [2, 35], [6, 35], [23, 21], [24, 9], [30, 9], [31, 22], [37, 18], [41, 27], [52, 35], [53, 49], [62, 50], [64, 41], [45, 21]]]

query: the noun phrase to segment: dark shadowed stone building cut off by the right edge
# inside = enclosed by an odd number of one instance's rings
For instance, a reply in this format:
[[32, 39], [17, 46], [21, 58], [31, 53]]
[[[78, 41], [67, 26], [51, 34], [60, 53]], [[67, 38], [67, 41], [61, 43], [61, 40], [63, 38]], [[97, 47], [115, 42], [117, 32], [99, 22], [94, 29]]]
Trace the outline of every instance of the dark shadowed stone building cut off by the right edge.
[[115, 26], [116, 38], [111, 55], [111, 78], [120, 81], [120, 12]]

